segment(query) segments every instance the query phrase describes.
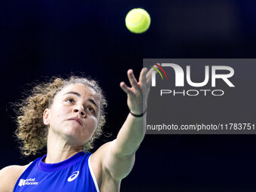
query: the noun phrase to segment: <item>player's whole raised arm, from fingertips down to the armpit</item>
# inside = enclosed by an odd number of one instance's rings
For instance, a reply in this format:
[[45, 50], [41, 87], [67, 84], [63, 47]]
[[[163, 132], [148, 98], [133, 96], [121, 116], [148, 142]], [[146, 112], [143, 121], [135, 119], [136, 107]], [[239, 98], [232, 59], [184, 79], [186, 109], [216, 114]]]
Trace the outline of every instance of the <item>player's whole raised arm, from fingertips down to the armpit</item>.
[[124, 82], [120, 83], [120, 87], [127, 95], [130, 113], [117, 134], [117, 139], [106, 143], [98, 150], [98, 153], [102, 154], [100, 157], [103, 174], [107, 172], [107, 175], [117, 183], [132, 170], [135, 152], [145, 136], [146, 111], [143, 110], [147, 108], [153, 69], [147, 71], [146, 68], [142, 69], [139, 81], [137, 81], [133, 70], [128, 70], [127, 75], [131, 87]]

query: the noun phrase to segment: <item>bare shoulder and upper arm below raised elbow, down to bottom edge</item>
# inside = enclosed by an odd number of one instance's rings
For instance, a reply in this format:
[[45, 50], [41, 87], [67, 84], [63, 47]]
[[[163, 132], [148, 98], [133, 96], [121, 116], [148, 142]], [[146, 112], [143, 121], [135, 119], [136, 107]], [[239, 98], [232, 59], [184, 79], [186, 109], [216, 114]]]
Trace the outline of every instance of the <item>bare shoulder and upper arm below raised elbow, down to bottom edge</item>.
[[102, 145], [90, 159], [99, 190], [120, 191], [120, 182], [133, 169], [134, 162], [135, 153], [125, 157], [120, 155], [116, 139]]

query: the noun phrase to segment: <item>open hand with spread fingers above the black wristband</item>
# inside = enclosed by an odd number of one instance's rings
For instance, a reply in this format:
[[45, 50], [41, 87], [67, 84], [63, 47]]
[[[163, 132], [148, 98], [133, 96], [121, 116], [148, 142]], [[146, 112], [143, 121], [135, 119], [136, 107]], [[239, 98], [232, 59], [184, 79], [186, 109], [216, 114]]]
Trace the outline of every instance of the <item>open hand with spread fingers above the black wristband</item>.
[[128, 87], [124, 82], [120, 83], [120, 87], [127, 94], [127, 105], [133, 114], [142, 114], [143, 105], [147, 108], [148, 93], [151, 87], [151, 75], [153, 68], [148, 71], [143, 68], [139, 75], [139, 82], [136, 80], [133, 69], [127, 72], [131, 87]]

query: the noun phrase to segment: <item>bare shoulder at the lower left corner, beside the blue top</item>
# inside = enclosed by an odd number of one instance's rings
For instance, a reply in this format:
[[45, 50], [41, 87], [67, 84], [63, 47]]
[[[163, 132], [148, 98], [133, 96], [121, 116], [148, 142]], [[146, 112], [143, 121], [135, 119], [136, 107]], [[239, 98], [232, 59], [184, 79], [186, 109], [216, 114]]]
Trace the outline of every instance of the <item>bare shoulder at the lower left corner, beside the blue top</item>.
[[6, 166], [0, 170], [0, 191], [11, 192], [14, 190], [14, 185], [17, 179], [29, 166]]

